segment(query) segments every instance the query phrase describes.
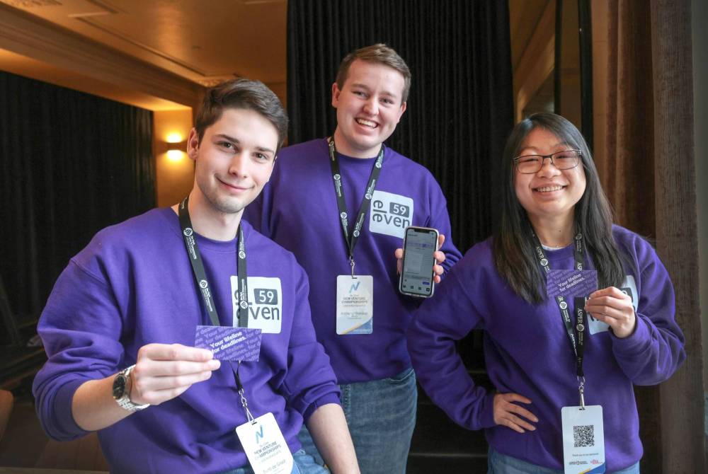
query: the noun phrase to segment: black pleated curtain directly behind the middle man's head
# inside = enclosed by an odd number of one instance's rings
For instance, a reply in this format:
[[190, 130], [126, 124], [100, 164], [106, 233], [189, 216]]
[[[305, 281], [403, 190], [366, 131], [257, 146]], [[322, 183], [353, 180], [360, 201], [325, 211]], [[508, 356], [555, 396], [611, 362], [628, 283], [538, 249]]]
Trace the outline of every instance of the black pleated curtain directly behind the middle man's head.
[[290, 0], [290, 143], [336, 127], [331, 85], [341, 59], [384, 42], [408, 63], [408, 109], [387, 144], [442, 187], [463, 252], [491, 233], [498, 170], [513, 126], [508, 4], [496, 0]]

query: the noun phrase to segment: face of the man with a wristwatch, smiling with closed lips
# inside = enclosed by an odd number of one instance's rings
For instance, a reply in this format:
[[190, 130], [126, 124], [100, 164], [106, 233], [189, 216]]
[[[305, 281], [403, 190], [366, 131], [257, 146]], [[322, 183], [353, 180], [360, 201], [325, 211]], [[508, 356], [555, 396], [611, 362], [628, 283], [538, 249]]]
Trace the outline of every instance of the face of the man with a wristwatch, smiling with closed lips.
[[200, 141], [195, 129], [187, 153], [195, 162], [195, 198], [222, 214], [238, 214], [270, 179], [278, 130], [263, 115], [227, 108]]

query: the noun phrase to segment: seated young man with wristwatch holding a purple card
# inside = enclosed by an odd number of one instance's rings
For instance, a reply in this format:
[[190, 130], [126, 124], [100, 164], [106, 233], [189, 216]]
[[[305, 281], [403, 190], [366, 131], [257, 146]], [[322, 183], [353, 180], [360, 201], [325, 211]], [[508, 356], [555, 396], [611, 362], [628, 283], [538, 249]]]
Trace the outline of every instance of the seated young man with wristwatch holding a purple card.
[[307, 276], [241, 220], [286, 129], [262, 83], [210, 89], [188, 138], [190, 195], [72, 258], [38, 327], [51, 437], [99, 430], [115, 472], [321, 473], [298, 451], [305, 420], [333, 471], [358, 473]]

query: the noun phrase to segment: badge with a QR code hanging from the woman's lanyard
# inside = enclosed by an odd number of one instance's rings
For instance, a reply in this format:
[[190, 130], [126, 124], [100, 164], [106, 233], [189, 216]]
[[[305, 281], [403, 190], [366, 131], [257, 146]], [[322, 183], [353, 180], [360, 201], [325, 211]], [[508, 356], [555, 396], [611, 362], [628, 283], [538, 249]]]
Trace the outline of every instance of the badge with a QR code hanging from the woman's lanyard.
[[564, 473], [604, 473], [606, 466], [603, 407], [563, 407], [561, 422]]

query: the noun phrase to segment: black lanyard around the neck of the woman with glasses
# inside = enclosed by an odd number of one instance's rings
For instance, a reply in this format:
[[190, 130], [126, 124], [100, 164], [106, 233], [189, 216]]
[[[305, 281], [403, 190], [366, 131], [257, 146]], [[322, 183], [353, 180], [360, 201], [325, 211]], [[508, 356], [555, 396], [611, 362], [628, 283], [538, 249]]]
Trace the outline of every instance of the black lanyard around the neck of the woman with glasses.
[[[543, 268], [544, 272], [548, 274], [551, 271], [549, 266], [549, 261], [546, 258], [546, 253], [543, 251], [543, 246], [541, 241], [535, 233], [532, 234], [535, 245], [536, 245], [536, 257], [538, 258], [539, 265]], [[575, 245], [573, 248], [573, 259], [575, 260], [575, 269], [583, 270], [583, 234], [578, 233], [575, 238]], [[571, 348], [573, 349], [573, 354], [576, 357], [576, 371], [578, 375], [578, 380], [583, 378], [583, 353], [585, 349], [585, 298], [578, 297], [574, 301], [576, 309], [576, 325], [573, 328], [573, 320], [571, 319], [571, 313], [568, 308], [568, 301], [566, 301], [565, 296], [556, 296], [556, 304], [561, 312], [561, 317], [563, 318], [563, 324], [566, 327], [566, 333], [568, 333], [568, 339], [571, 342]]]

